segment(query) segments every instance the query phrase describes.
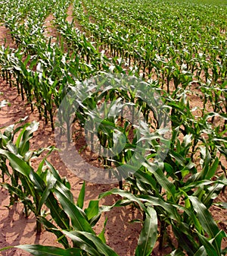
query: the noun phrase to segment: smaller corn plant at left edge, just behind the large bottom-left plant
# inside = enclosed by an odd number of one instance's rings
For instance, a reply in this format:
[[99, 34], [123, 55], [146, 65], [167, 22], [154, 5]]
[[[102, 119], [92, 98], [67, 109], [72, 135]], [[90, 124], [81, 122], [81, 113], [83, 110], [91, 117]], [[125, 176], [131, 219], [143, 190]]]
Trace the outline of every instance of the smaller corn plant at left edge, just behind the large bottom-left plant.
[[[30, 215], [30, 210], [36, 216], [41, 214], [40, 197], [33, 186], [33, 180], [24, 177], [20, 170], [17, 170], [18, 166], [20, 166], [20, 169], [26, 168], [26, 166], [30, 168], [31, 159], [39, 156], [44, 150], [53, 150], [53, 147], [40, 148], [35, 151], [30, 150], [30, 139], [33, 137], [33, 132], [37, 130], [38, 126], [37, 122], [18, 127], [10, 125], [1, 133], [1, 185], [7, 188], [11, 194], [10, 204], [14, 204], [18, 200], [22, 201], [26, 217]], [[17, 140], [14, 142], [15, 136], [17, 136]], [[8, 158], [12, 160], [10, 163], [11, 168], [6, 163]], [[18, 163], [14, 163], [15, 159]], [[40, 173], [42, 173], [42, 165], [43, 163], [40, 164], [38, 169]], [[5, 175], [7, 175], [7, 179], [5, 179]], [[33, 197], [33, 200], [30, 199], [30, 196]], [[37, 232], [41, 232], [39, 222], [37, 222], [36, 229]]]

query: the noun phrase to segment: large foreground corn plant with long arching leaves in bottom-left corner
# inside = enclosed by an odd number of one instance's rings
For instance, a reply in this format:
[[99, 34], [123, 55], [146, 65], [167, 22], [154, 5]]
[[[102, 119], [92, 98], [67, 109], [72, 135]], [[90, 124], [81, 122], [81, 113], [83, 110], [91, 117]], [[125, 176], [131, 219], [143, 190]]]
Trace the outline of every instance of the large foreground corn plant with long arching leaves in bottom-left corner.
[[[19, 172], [23, 176], [21, 178], [21, 181], [23, 180], [23, 188], [27, 188], [27, 185], [29, 185], [30, 190], [29, 193], [27, 189], [27, 193], [22, 194], [22, 191], [13, 188], [11, 185], [5, 185], [5, 187], [17, 194], [23, 204], [33, 210], [36, 214], [37, 222], [39, 224], [42, 223], [49, 232], [53, 232], [58, 237], [58, 242], [64, 245], [65, 249], [42, 245], [33, 245], [31, 247], [26, 245], [18, 248], [40, 255], [49, 254], [51, 251], [54, 254], [117, 255], [105, 244], [103, 232], [97, 236], [92, 229], [92, 226], [97, 223], [101, 216], [101, 211], [103, 211], [98, 207], [98, 201], [90, 201], [89, 207], [82, 210], [85, 184], [82, 186], [75, 204], [73, 194], [70, 192], [69, 182], [61, 179], [58, 172], [46, 160], [43, 160], [37, 172], [34, 172], [28, 163], [14, 153], [1, 149], [0, 154], [7, 157], [14, 168], [14, 172]], [[42, 171], [44, 163], [48, 169]], [[34, 209], [33, 202], [27, 198], [28, 195], [33, 197], [36, 209]], [[51, 220], [41, 214], [43, 204], [49, 208]], [[68, 239], [73, 242], [72, 248]]]

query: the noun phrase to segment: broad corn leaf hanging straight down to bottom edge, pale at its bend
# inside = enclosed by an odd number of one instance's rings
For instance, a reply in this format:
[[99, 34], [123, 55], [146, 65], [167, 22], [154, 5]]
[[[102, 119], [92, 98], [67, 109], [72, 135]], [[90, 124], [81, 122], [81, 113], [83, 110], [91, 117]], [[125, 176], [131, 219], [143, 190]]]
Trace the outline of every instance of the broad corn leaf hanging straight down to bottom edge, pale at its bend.
[[152, 207], [148, 207], [148, 213], [138, 238], [135, 256], [149, 256], [157, 241], [157, 213]]

